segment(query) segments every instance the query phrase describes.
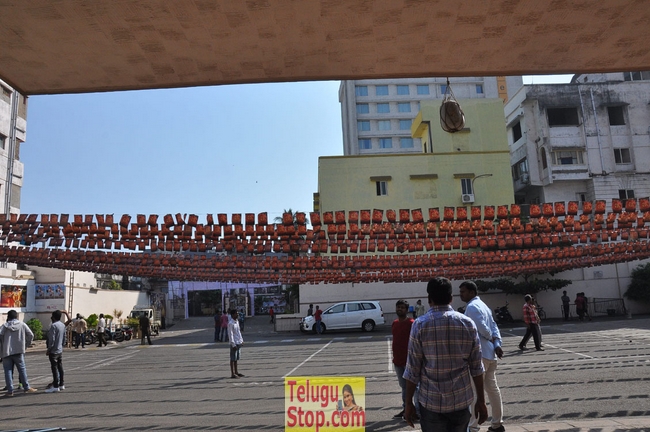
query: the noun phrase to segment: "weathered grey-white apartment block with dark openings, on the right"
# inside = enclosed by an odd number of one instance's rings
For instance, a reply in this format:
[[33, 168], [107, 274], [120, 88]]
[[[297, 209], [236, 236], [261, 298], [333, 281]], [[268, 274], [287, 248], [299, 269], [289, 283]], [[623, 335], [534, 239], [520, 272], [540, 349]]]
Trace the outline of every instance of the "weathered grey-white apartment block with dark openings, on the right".
[[650, 196], [649, 102], [650, 72], [519, 89], [505, 105], [517, 203]]

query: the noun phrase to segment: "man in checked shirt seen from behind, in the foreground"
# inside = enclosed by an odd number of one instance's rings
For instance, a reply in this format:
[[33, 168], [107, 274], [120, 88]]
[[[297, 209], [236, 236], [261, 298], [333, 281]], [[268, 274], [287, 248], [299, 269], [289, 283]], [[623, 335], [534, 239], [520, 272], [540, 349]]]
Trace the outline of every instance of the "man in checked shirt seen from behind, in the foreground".
[[427, 285], [431, 309], [413, 323], [409, 338], [404, 419], [413, 426], [413, 394], [420, 383], [422, 432], [466, 432], [474, 402], [478, 423], [487, 419], [481, 342], [474, 322], [455, 312], [451, 282], [437, 277]]

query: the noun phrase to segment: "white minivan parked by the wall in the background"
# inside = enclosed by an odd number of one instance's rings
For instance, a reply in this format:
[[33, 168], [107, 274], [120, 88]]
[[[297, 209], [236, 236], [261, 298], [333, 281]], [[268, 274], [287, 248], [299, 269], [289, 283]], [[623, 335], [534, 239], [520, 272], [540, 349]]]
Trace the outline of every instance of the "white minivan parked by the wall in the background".
[[[337, 303], [323, 311], [321, 330], [361, 329], [373, 331], [375, 326], [384, 325], [384, 312], [378, 301], [351, 301]], [[316, 331], [316, 320], [307, 316], [300, 320], [300, 330]]]

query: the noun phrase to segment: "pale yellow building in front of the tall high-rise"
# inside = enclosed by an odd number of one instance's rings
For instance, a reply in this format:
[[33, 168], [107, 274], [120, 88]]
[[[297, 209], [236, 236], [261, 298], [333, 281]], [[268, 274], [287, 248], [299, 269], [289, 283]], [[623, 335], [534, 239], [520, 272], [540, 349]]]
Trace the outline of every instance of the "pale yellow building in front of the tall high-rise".
[[422, 103], [411, 131], [423, 153], [320, 157], [320, 212], [513, 203], [503, 101], [460, 104], [465, 129], [450, 134], [440, 127], [440, 102]]

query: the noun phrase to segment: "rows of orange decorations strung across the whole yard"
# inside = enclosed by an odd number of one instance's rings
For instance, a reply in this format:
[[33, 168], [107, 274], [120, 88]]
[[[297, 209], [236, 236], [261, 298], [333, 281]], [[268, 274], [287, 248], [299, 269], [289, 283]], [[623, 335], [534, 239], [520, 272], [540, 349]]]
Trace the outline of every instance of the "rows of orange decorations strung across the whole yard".
[[[0, 262], [168, 280], [416, 282], [650, 257], [650, 199], [283, 214], [0, 215]], [[308, 229], [309, 227], [309, 229]], [[11, 245], [13, 243], [14, 245]], [[19, 245], [18, 245], [19, 244]]]

